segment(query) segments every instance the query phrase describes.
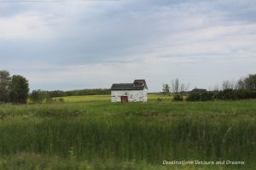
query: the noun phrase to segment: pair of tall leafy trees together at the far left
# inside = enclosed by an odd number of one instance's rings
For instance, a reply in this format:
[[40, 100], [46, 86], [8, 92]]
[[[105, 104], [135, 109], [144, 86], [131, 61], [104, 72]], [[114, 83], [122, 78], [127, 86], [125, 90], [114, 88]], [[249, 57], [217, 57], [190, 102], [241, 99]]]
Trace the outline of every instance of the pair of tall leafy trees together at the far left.
[[29, 84], [25, 77], [0, 71], [0, 103], [26, 104]]

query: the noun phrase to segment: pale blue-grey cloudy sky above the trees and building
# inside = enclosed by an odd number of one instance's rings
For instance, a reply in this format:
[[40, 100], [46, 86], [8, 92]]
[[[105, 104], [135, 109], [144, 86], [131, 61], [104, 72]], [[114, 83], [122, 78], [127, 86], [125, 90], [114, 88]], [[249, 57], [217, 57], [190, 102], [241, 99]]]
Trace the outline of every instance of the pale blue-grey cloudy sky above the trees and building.
[[211, 89], [255, 65], [255, 0], [0, 0], [0, 70], [31, 90]]

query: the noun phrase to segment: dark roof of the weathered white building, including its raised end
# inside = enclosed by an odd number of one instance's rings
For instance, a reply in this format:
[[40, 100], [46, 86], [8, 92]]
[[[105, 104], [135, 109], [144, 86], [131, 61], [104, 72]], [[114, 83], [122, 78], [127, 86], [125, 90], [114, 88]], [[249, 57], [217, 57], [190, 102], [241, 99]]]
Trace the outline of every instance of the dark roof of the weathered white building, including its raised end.
[[145, 80], [135, 80], [133, 83], [112, 84], [111, 90], [143, 90], [147, 88]]

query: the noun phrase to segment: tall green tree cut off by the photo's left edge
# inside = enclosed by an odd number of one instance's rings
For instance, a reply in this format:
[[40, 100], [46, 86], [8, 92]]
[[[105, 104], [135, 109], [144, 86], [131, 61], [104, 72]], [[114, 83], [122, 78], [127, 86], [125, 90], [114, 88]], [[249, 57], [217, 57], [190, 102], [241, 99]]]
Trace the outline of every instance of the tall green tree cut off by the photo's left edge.
[[0, 103], [9, 100], [9, 71], [0, 71]]

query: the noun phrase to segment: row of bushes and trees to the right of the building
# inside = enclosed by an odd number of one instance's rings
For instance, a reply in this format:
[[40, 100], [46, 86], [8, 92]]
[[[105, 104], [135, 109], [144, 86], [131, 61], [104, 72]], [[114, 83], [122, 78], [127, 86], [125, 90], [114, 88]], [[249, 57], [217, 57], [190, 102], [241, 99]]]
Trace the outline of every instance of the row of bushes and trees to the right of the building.
[[[172, 81], [172, 95], [174, 101], [183, 101], [186, 94], [187, 101], [209, 101], [215, 99], [256, 99], [256, 74], [241, 77], [238, 81], [225, 80], [222, 88], [216, 86], [213, 90], [194, 88], [190, 92], [186, 91], [189, 85], [179, 82], [178, 79]], [[170, 94], [170, 86], [163, 84], [164, 95]]]

